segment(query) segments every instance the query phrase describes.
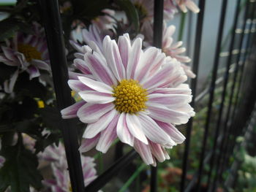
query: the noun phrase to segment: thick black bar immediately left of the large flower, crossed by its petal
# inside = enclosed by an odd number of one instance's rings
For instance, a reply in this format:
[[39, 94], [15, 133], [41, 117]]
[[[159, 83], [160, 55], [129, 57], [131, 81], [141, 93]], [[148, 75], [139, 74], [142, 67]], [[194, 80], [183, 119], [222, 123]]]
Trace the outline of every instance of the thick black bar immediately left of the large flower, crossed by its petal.
[[[39, 3], [42, 9], [42, 20], [45, 25], [57, 105], [59, 110], [62, 110], [72, 104], [72, 98], [67, 85], [67, 60], [59, 4], [57, 0], [39, 0]], [[84, 183], [80, 153], [78, 151], [77, 129], [72, 120], [62, 120], [61, 131], [64, 138], [72, 191], [81, 192], [84, 190]]]

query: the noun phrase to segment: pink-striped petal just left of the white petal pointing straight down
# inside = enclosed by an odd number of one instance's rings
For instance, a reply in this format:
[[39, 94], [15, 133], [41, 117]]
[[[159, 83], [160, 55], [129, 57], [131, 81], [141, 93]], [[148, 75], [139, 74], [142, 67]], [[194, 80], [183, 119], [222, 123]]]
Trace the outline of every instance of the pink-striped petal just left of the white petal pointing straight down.
[[112, 142], [116, 139], [116, 125], [118, 122], [119, 115], [117, 114], [113, 120], [109, 123], [108, 127], [105, 128], [104, 131], [101, 132], [99, 142], [96, 146], [96, 149], [101, 151], [102, 153], [106, 153], [112, 144]]

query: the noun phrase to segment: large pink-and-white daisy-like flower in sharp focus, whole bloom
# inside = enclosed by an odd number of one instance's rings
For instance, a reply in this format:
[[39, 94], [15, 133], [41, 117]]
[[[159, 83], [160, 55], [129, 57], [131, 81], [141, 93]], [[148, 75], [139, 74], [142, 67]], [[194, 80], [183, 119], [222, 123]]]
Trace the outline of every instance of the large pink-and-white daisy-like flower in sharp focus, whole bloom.
[[184, 141], [175, 128], [195, 114], [189, 102], [187, 76], [176, 59], [156, 47], [142, 50], [142, 39], [131, 43], [128, 34], [103, 40], [102, 53], [86, 53], [69, 87], [81, 101], [61, 110], [62, 118], [87, 123], [80, 152], [106, 153], [118, 137], [140, 153], [146, 164], [165, 161], [165, 148]]

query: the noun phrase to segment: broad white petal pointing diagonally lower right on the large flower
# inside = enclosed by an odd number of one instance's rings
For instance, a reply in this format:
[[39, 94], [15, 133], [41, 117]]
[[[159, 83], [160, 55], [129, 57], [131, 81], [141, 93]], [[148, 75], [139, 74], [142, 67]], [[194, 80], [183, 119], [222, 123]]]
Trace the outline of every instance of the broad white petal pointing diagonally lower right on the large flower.
[[148, 117], [148, 115], [140, 113], [138, 117], [140, 118], [141, 128], [149, 140], [161, 145], [173, 142], [167, 133], [152, 118]]

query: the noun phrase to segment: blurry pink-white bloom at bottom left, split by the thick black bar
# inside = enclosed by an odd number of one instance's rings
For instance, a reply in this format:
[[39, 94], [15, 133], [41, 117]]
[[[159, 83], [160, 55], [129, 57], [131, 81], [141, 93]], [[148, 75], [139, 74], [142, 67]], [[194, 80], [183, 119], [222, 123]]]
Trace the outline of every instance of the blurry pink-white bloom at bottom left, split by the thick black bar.
[[[64, 146], [59, 143], [59, 147], [56, 145], [49, 146], [45, 149], [44, 153], [39, 156], [50, 162], [54, 179], [44, 180], [43, 183], [50, 187], [51, 191], [69, 192], [71, 191], [71, 185], [69, 180], [69, 172], [67, 169], [67, 159], [64, 150]], [[96, 169], [94, 168], [94, 158], [85, 157], [81, 155], [83, 179], [84, 184], [87, 186], [93, 180], [97, 178]]]

